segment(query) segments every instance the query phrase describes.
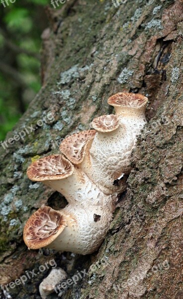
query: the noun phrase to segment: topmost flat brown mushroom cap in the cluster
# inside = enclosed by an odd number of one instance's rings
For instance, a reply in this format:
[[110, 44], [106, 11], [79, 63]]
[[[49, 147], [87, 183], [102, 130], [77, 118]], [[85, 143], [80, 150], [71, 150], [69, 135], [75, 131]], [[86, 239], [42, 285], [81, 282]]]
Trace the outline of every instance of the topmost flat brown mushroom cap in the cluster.
[[141, 94], [119, 92], [111, 96], [107, 103], [113, 107], [141, 108], [147, 101], [148, 98]]

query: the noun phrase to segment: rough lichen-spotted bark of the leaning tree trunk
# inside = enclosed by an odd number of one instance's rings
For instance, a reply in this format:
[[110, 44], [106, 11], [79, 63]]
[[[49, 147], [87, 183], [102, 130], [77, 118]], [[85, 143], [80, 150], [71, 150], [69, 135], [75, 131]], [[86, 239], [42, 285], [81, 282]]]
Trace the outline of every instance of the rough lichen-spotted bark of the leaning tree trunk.
[[[62, 298], [183, 298], [182, 13], [180, 0], [129, 0], [118, 7], [110, 0], [70, 0], [61, 11], [48, 9], [43, 87], [6, 140], [24, 127], [36, 127], [48, 112], [55, 121], [0, 149], [0, 284], [26, 270], [37, 273], [52, 258], [68, 277], [105, 259], [107, 266], [99, 263], [94, 273], [68, 286]], [[59, 152], [56, 140], [111, 113], [107, 98], [120, 91], [148, 95], [149, 124], [138, 138], [128, 190], [101, 248], [84, 257], [28, 251], [22, 229], [30, 214], [42, 204], [60, 208], [66, 201], [30, 182], [27, 166], [38, 156]], [[170, 268], [161, 266], [166, 260]], [[13, 299], [40, 298], [38, 285], [48, 272], [9, 288], [9, 294]], [[129, 281], [135, 275], [140, 276], [136, 284]], [[1, 291], [0, 298], [5, 296]]]

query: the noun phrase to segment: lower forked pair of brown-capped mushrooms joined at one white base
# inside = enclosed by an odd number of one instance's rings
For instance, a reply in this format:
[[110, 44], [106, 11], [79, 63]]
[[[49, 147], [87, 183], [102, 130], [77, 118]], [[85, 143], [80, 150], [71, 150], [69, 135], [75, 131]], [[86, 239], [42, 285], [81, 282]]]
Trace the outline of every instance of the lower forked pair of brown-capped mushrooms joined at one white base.
[[83, 255], [94, 252], [112, 220], [116, 196], [105, 195], [82, 169], [62, 155], [37, 160], [27, 174], [61, 192], [69, 203], [61, 211], [41, 207], [29, 218], [23, 233], [28, 248], [46, 246]]

